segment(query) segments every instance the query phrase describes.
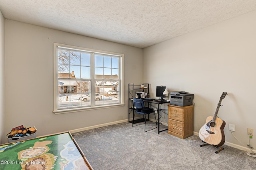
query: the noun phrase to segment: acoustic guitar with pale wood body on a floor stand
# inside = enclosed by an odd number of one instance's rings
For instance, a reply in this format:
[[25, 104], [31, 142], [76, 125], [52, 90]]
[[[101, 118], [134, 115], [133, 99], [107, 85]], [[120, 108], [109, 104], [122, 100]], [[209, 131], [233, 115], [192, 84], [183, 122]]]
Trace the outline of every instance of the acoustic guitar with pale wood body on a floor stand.
[[225, 134], [223, 129], [226, 125], [226, 122], [218, 118], [217, 114], [221, 106], [221, 101], [226, 97], [227, 94], [228, 93], [226, 92], [222, 93], [214, 116], [207, 117], [206, 124], [204, 124], [204, 126], [202, 126], [199, 130], [200, 139], [202, 139], [203, 142], [216, 147], [222, 146], [225, 142]]

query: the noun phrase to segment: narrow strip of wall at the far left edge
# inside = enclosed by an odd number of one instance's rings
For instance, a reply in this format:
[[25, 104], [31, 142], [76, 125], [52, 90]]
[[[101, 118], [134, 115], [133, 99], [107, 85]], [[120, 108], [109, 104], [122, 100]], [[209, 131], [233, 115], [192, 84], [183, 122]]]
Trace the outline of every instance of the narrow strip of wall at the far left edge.
[[4, 59], [4, 17], [0, 11], [0, 144], [5, 134], [5, 59]]

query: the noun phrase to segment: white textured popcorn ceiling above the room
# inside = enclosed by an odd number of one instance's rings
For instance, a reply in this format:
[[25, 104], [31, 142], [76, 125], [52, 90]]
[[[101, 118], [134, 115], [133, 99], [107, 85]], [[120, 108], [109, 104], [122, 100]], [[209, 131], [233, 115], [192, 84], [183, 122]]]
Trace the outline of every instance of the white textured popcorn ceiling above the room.
[[256, 0], [0, 0], [4, 18], [148, 47], [256, 10]]

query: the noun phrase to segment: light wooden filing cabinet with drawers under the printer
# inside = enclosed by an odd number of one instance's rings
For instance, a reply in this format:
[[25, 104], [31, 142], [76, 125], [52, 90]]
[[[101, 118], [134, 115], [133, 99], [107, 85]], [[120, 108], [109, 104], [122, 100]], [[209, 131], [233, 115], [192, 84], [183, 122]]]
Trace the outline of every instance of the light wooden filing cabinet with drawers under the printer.
[[194, 105], [168, 105], [168, 134], [184, 139], [193, 135]]

